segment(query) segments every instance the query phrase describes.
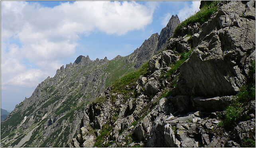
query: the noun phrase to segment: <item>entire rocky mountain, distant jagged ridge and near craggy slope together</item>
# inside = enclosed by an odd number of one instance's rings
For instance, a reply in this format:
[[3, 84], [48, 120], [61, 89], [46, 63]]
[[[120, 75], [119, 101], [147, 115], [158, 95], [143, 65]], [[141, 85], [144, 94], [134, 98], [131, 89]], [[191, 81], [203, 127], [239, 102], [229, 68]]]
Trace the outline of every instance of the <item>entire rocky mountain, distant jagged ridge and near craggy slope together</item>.
[[1, 147], [255, 147], [255, 1], [201, 1], [128, 56], [79, 56], [1, 123]]

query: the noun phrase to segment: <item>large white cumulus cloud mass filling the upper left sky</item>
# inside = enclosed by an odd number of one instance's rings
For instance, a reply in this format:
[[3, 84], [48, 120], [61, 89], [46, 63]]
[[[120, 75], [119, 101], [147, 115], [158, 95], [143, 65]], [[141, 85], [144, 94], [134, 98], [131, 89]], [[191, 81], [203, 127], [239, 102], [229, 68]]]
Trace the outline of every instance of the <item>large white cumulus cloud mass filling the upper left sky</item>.
[[[63, 64], [61, 60], [75, 53], [81, 35], [93, 31], [124, 35], [143, 29], [152, 22], [153, 12], [154, 5], [133, 1], [76, 1], [53, 8], [26, 1], [3, 1], [1, 84], [4, 88], [35, 87]], [[12, 43], [14, 38], [21, 45]], [[27, 62], [35, 66], [31, 68]]]

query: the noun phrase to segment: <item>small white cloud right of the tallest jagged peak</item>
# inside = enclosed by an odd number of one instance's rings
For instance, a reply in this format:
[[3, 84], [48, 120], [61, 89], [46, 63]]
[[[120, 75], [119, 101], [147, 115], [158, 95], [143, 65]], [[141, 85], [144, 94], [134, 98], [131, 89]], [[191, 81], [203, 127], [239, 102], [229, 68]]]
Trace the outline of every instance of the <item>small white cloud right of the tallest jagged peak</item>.
[[183, 21], [192, 14], [195, 14], [195, 12], [199, 11], [200, 2], [201, 1], [193, 1], [191, 6], [185, 3], [184, 7], [178, 12], [179, 19]]

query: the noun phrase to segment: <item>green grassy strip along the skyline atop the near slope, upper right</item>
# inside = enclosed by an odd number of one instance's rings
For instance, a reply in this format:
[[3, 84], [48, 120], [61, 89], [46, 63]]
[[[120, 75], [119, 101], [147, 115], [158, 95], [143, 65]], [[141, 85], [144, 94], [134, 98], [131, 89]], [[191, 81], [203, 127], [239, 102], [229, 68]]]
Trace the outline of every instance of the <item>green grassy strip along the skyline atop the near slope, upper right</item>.
[[181, 32], [181, 29], [184, 27], [187, 27], [191, 23], [196, 23], [196, 22], [204, 23], [208, 21], [211, 15], [217, 11], [218, 4], [220, 2], [221, 1], [214, 1], [211, 3], [210, 1], [206, 1], [205, 6], [201, 10], [199, 10], [199, 12], [185, 19], [176, 27], [173, 36], [177, 37], [178, 34]]

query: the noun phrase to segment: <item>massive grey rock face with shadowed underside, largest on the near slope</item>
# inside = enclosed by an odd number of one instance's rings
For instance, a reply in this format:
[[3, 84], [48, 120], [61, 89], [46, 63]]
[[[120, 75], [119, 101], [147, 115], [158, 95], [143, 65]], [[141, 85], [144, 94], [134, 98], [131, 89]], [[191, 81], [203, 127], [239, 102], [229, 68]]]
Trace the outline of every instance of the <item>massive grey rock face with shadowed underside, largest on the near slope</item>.
[[246, 6], [223, 5], [202, 25], [200, 43], [180, 67], [176, 94], [224, 96], [240, 90], [255, 59], [255, 20], [242, 17]]

